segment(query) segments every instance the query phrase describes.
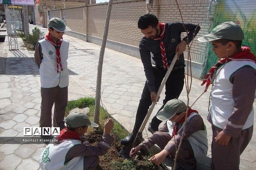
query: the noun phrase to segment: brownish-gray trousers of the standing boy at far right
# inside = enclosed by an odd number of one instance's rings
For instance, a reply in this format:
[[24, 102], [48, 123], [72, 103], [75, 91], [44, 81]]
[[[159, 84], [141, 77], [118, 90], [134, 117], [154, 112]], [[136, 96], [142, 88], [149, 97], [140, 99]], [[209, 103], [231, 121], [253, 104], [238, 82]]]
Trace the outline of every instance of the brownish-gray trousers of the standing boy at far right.
[[238, 138], [231, 137], [227, 145], [217, 144], [215, 137], [222, 129], [212, 126], [212, 170], [239, 170], [240, 155], [253, 135], [253, 126], [241, 131]]

